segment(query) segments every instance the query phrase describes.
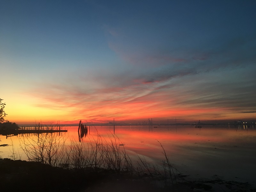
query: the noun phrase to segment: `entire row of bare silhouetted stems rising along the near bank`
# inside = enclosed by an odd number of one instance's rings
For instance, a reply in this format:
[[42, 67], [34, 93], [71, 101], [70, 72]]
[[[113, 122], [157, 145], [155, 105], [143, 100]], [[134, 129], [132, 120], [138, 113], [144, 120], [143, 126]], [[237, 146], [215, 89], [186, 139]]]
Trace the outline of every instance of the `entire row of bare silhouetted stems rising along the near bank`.
[[170, 186], [177, 183], [177, 169], [172, 166], [164, 147], [164, 160], [161, 165], [146, 162], [138, 156], [137, 165], [132, 163], [126, 153], [124, 144], [115, 134], [102, 138], [97, 131], [95, 137], [81, 142], [71, 139], [70, 145], [65, 146], [64, 137], [58, 134], [38, 134], [37, 138], [23, 138], [20, 143], [29, 161], [37, 161], [65, 169], [75, 169], [81, 172], [128, 173], [139, 178], [148, 179], [155, 185], [164, 183]]

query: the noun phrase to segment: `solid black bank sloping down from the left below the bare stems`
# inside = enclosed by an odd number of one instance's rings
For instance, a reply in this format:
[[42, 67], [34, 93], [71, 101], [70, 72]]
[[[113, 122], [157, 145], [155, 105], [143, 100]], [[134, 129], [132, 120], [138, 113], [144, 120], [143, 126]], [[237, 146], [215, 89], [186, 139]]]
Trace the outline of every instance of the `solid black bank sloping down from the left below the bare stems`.
[[129, 174], [84, 171], [0, 159], [1, 191], [162, 191]]

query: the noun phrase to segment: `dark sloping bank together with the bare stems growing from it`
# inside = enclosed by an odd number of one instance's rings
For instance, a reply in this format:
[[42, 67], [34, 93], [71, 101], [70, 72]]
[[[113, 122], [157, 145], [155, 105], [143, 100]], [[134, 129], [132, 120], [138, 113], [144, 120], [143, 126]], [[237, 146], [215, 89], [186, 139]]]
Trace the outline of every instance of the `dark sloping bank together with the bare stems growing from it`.
[[[86, 135], [85, 135], [86, 136]], [[11, 159], [0, 159], [0, 186], [26, 191], [166, 191], [177, 183], [178, 172], [168, 157], [161, 165], [138, 156], [134, 165], [124, 145], [114, 134], [79, 142], [57, 133], [20, 139], [27, 161], [12, 151]], [[160, 144], [161, 145], [161, 144]], [[164, 149], [163, 149], [164, 150]]]

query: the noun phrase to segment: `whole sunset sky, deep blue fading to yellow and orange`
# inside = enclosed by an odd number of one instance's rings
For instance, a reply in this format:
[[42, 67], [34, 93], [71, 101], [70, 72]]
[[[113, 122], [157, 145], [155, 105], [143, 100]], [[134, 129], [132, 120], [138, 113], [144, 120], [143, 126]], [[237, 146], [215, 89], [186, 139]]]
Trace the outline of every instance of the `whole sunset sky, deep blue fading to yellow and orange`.
[[256, 119], [256, 1], [0, 1], [5, 119]]

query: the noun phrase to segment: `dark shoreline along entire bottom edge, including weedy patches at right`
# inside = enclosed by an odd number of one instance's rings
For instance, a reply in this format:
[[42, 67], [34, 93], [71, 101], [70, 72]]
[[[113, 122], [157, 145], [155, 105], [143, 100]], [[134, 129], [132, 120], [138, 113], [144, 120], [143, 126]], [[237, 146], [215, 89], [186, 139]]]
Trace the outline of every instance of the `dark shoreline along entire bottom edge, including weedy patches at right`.
[[[75, 170], [52, 167], [39, 162], [0, 158], [1, 189], [26, 191], [256, 191], [250, 183], [212, 179], [193, 180], [181, 175], [182, 181], [168, 188], [157, 187], [143, 177], [110, 170]], [[15, 184], [15, 185], [14, 185]], [[11, 186], [11, 187], [10, 187]]]

